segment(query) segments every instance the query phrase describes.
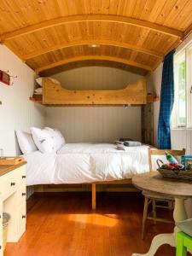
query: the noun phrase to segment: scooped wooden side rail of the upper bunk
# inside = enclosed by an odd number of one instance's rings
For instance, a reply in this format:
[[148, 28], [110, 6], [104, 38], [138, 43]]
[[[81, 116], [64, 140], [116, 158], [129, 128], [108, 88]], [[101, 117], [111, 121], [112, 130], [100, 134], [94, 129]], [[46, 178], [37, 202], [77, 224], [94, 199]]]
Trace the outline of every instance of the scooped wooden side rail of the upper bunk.
[[44, 105], [141, 105], [147, 103], [146, 79], [121, 90], [67, 90], [50, 79], [43, 81]]

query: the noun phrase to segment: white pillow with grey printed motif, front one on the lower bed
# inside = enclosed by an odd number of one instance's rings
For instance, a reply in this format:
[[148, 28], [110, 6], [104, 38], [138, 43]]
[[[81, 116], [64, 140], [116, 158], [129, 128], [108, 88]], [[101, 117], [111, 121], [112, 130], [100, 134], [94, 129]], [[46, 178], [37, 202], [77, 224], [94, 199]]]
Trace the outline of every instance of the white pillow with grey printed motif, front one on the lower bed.
[[31, 128], [33, 140], [42, 153], [56, 152], [55, 137], [47, 129]]

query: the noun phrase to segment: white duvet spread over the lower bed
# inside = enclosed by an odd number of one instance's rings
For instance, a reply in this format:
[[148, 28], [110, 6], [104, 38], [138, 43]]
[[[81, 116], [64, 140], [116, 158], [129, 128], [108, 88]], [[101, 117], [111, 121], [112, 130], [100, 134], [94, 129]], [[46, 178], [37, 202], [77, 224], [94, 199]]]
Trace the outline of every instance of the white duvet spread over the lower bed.
[[147, 146], [119, 151], [114, 144], [69, 143], [57, 154], [35, 151], [24, 157], [27, 185], [111, 181], [149, 171]]

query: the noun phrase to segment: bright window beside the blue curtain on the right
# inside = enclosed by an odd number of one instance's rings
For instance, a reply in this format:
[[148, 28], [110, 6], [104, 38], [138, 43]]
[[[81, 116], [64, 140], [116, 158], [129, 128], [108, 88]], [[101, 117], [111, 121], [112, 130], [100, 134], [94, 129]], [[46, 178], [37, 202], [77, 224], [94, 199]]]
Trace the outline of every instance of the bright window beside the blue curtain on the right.
[[174, 55], [172, 128], [192, 128], [192, 45]]

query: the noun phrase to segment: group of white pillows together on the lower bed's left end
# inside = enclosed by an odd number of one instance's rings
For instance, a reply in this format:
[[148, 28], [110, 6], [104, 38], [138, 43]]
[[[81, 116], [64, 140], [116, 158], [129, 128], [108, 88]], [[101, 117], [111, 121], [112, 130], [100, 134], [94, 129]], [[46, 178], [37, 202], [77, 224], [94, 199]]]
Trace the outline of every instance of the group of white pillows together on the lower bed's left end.
[[65, 138], [61, 131], [45, 127], [31, 128], [32, 133], [16, 131], [20, 150], [23, 154], [29, 154], [40, 150], [42, 153], [56, 153], [65, 144]]

